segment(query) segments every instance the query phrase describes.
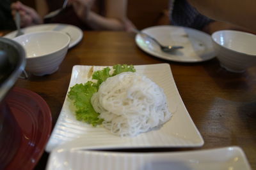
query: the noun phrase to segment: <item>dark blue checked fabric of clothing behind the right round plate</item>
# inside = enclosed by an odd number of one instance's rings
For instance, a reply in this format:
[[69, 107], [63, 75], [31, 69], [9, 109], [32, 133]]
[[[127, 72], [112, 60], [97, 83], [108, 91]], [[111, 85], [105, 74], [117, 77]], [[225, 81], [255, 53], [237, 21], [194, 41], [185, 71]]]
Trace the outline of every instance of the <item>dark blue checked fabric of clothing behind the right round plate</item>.
[[172, 16], [170, 16], [173, 25], [191, 27], [202, 30], [203, 27], [214, 21], [201, 15], [186, 0], [175, 0], [173, 3]]

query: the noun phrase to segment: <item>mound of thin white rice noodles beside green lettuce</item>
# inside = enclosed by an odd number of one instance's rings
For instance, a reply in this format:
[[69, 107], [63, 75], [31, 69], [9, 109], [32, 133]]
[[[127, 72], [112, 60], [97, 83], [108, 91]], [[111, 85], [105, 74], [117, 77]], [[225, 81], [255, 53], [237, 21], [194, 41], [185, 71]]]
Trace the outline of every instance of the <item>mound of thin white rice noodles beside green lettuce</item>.
[[91, 103], [104, 119], [104, 127], [118, 136], [147, 132], [172, 116], [163, 89], [138, 73], [108, 78], [93, 94]]

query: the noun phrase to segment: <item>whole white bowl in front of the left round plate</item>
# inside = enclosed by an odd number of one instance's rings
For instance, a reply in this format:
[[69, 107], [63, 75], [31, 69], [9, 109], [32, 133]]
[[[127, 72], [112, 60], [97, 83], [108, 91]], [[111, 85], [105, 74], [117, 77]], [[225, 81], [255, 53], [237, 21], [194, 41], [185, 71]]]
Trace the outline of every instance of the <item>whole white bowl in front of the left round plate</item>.
[[58, 31], [31, 32], [14, 40], [26, 51], [26, 71], [36, 76], [57, 71], [70, 43], [70, 37]]

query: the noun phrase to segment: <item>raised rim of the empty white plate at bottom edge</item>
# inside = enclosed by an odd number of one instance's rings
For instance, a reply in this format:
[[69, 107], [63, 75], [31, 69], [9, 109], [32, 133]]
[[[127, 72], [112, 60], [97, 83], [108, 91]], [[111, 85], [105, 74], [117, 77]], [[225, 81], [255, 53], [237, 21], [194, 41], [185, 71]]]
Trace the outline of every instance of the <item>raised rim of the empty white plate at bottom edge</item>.
[[[240, 161], [241, 164], [243, 164], [244, 169], [246, 170], [250, 170], [250, 163], [248, 162], [248, 159], [243, 151], [243, 149], [239, 146], [225, 146], [225, 147], [220, 147], [220, 148], [207, 148], [204, 150], [187, 150], [187, 151], [178, 151], [178, 152], [147, 152], [147, 153], [141, 153], [141, 152], [108, 152], [108, 151], [93, 151], [93, 150], [74, 150], [73, 148], [62, 148], [62, 150], [59, 149], [54, 149], [53, 152], [51, 153], [48, 161], [47, 161], [47, 170], [54, 168], [54, 164], [52, 164], [52, 159], [53, 157], [58, 157], [58, 154], [62, 153], [62, 152], [66, 152], [66, 153], [75, 153], [75, 154], [79, 154], [81, 155], [85, 155], [87, 157], [93, 157], [93, 159], [97, 159], [97, 157], [102, 157], [102, 155], [106, 156], [106, 157], [110, 157], [110, 158], [116, 158], [122, 157], [122, 158], [127, 158], [127, 159], [131, 159], [134, 157], [142, 157], [142, 159], [146, 159], [149, 158], [149, 161], [152, 160], [152, 158], [154, 157], [162, 157], [162, 158], [166, 158], [168, 159], [168, 157], [170, 157], [170, 161], [172, 160], [180, 160], [181, 162], [184, 161], [188, 161], [188, 157], [196, 157], [196, 160], [200, 160], [200, 158], [202, 159], [202, 157], [207, 158], [209, 160], [215, 160], [216, 162], [220, 162], [220, 160], [218, 161], [216, 159], [216, 157], [212, 156], [212, 153], [214, 153], [215, 155], [218, 154], [222, 157], [227, 157], [227, 155], [230, 155], [231, 157], [240, 157]], [[227, 155], [223, 155], [221, 154], [222, 152], [227, 153]], [[182, 157], [182, 155], [185, 155], [185, 158]], [[178, 157], [177, 157], [178, 156]], [[175, 157], [173, 159], [173, 157]], [[176, 158], [177, 157], [177, 158]], [[187, 157], [187, 158], [186, 158]], [[220, 159], [220, 157], [218, 157], [218, 159]], [[111, 161], [110, 159], [108, 159], [109, 161]], [[190, 159], [189, 159], [190, 160]], [[56, 159], [57, 161], [57, 159]], [[202, 160], [202, 162], [204, 163], [204, 160]], [[202, 163], [201, 162], [201, 163]], [[227, 162], [227, 161], [224, 161]], [[78, 162], [79, 163], [79, 162]], [[105, 162], [106, 163], [106, 162]], [[223, 163], [223, 162], [221, 162]], [[114, 166], [115, 167], [115, 166]]]

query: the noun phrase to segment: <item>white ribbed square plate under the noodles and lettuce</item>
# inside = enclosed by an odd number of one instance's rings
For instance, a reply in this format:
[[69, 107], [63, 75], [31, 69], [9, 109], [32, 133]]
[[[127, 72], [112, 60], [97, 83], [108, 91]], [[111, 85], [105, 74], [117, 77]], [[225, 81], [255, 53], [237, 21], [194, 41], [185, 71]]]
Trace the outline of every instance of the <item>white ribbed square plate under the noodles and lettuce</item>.
[[[92, 66], [74, 66], [70, 87], [76, 83], [88, 81], [87, 74]], [[51, 152], [56, 146], [76, 140], [77, 147], [83, 148], [147, 148], [147, 147], [195, 147], [204, 145], [202, 136], [191, 120], [179, 95], [169, 64], [134, 66], [136, 71], [145, 74], [166, 94], [169, 110], [173, 117], [160, 129], [139, 134], [134, 138], [120, 138], [111, 134], [104, 127], [91, 125], [76, 120], [70, 100], [64, 101], [60, 116], [52, 131], [45, 150]], [[103, 66], [94, 66], [94, 71]]]

